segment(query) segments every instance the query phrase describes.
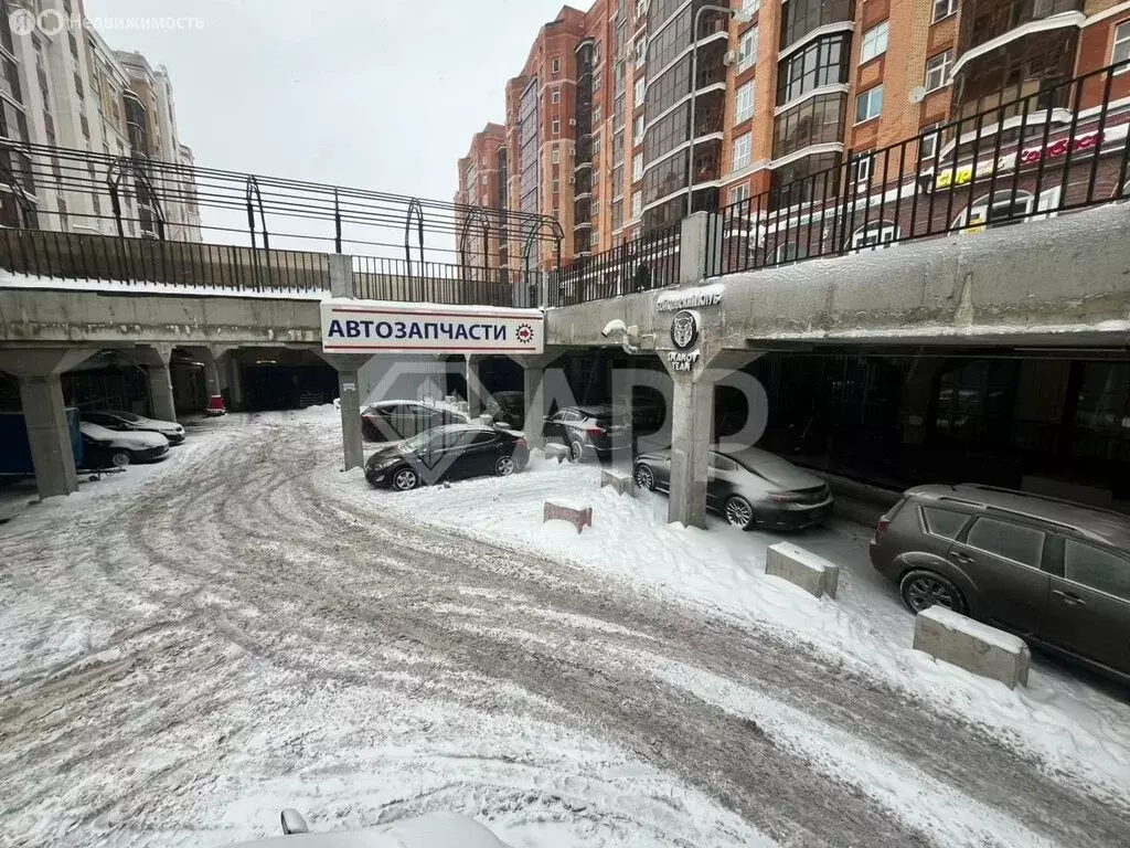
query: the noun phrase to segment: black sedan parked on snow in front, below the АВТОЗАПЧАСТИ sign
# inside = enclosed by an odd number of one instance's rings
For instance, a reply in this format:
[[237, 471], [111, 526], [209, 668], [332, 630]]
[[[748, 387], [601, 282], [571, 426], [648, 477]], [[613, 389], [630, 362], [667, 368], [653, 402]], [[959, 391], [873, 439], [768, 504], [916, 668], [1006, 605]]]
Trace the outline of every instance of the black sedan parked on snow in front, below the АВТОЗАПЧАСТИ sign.
[[519, 433], [449, 424], [377, 450], [365, 462], [365, 479], [405, 492], [443, 479], [508, 477], [529, 461], [530, 449]]

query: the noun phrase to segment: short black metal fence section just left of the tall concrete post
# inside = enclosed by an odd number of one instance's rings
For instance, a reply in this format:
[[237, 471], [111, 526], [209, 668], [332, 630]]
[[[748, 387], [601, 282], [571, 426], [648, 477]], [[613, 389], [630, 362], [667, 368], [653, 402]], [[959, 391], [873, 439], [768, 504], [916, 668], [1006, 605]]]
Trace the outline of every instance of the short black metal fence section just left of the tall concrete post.
[[585, 257], [551, 275], [547, 306], [616, 297], [678, 283], [681, 224]]

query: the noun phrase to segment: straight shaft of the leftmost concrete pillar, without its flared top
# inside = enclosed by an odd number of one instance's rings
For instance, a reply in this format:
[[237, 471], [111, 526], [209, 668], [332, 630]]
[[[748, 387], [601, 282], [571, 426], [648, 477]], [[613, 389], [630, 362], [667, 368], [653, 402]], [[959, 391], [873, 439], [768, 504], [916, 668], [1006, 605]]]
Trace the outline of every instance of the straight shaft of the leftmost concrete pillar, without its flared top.
[[20, 377], [19, 398], [24, 405], [27, 440], [40, 497], [69, 495], [78, 491], [75, 451], [59, 374]]

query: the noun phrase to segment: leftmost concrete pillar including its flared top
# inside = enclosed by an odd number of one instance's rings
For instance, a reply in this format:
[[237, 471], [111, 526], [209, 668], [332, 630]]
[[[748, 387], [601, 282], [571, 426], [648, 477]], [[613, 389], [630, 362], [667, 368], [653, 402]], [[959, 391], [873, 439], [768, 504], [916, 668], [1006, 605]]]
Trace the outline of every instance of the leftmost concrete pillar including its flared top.
[[12, 348], [0, 351], [0, 371], [19, 382], [32, 466], [40, 497], [78, 491], [75, 451], [60, 375], [97, 353], [82, 348]]

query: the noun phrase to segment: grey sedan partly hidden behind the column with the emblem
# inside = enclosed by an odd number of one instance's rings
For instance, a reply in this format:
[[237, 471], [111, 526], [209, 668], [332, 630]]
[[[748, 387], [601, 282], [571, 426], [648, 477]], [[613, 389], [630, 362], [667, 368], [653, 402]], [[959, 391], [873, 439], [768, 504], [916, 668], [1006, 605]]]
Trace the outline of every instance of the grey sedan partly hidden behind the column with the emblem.
[[[668, 492], [671, 451], [641, 453], [633, 476], [640, 488]], [[706, 509], [744, 530], [800, 530], [832, 513], [832, 492], [819, 477], [768, 451], [712, 450]]]

